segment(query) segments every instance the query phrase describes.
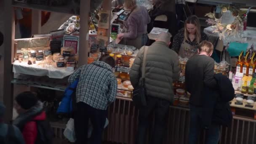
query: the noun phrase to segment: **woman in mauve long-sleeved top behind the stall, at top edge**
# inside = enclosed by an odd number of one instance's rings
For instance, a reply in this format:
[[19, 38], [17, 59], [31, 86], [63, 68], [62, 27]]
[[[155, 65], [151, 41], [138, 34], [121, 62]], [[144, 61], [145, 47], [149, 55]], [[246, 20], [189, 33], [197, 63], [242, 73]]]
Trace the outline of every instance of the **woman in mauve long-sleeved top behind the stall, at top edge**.
[[133, 45], [140, 49], [146, 45], [147, 37], [147, 24], [150, 22], [149, 13], [147, 8], [136, 5], [136, 0], [125, 0], [125, 9], [131, 10], [127, 21], [125, 21], [126, 33], [117, 35], [119, 39], [124, 38], [126, 45]]

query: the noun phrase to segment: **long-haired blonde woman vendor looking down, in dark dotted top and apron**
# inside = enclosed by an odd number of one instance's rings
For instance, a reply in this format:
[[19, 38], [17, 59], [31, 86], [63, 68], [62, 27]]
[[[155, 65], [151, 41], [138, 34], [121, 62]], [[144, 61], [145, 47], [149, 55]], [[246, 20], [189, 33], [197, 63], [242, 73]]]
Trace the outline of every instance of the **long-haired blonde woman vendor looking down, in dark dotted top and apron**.
[[203, 40], [208, 40], [208, 36], [201, 32], [197, 16], [189, 16], [184, 27], [173, 38], [172, 49], [179, 53], [182, 58], [191, 58], [197, 54], [198, 45]]

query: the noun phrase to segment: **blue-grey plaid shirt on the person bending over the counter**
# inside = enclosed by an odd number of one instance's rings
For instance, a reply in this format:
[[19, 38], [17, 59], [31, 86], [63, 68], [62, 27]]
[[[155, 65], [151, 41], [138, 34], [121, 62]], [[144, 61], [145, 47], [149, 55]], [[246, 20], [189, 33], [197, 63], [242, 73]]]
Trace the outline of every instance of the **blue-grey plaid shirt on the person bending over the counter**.
[[106, 110], [115, 101], [117, 80], [112, 67], [103, 62], [95, 61], [77, 69], [70, 77], [69, 83], [79, 78], [76, 90], [77, 102], [84, 102], [93, 108]]

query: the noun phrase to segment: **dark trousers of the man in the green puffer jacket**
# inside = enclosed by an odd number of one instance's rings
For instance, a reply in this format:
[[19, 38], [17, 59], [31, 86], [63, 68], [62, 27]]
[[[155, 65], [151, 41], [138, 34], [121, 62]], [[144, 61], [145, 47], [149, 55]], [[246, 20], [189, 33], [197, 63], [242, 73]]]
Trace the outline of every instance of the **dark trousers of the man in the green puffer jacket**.
[[166, 116], [168, 114], [170, 102], [164, 99], [154, 97], [147, 97], [147, 106], [139, 109], [139, 127], [137, 133], [136, 144], [145, 144], [147, 128], [149, 122], [149, 115], [155, 112], [155, 124], [151, 135], [152, 144], [162, 144], [163, 134], [166, 130]]

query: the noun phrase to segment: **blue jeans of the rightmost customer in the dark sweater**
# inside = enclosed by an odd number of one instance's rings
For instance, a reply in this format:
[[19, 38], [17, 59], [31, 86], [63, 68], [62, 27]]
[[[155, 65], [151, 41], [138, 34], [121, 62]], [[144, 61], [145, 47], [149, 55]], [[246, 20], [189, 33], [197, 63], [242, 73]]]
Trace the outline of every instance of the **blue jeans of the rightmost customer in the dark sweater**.
[[[201, 115], [202, 107], [197, 107], [192, 104], [190, 108], [190, 128], [189, 128], [189, 144], [198, 144], [198, 136], [202, 130]], [[212, 124], [205, 135], [205, 144], [218, 144], [220, 135], [220, 125]]]

